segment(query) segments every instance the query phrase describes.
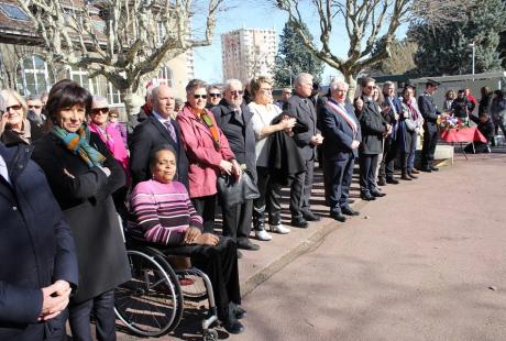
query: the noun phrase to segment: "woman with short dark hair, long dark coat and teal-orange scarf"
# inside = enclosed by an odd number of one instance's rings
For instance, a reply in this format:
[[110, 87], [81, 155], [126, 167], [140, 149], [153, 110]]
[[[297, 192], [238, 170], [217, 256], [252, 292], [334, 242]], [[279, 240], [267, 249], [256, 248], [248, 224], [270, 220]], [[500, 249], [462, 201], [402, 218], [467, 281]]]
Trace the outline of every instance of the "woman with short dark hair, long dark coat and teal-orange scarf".
[[70, 80], [57, 82], [47, 100], [48, 133], [33, 160], [44, 170], [70, 226], [77, 249], [79, 288], [70, 299], [75, 340], [116, 340], [114, 287], [130, 279], [130, 266], [111, 194], [125, 175], [100, 138], [86, 125], [91, 95]]

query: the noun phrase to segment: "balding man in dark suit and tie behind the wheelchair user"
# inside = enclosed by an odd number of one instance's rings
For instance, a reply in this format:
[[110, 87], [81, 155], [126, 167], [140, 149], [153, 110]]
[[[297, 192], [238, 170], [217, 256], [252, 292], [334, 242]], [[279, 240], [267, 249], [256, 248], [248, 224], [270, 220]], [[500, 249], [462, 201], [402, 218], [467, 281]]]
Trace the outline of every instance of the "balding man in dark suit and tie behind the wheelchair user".
[[161, 85], [153, 89], [151, 95], [152, 114], [135, 127], [129, 139], [130, 172], [132, 186], [151, 178], [150, 153], [158, 145], [168, 144], [176, 151], [177, 177], [188, 189], [188, 158], [180, 141], [180, 129], [176, 120], [170, 119], [174, 113], [174, 90]]

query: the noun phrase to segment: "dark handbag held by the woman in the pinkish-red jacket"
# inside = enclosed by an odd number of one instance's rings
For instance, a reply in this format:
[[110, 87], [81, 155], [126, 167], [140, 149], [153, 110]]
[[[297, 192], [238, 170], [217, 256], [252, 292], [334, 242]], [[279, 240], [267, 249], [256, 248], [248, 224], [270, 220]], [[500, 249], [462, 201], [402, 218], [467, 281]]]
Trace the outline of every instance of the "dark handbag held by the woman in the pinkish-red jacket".
[[258, 188], [249, 172], [243, 172], [239, 182], [233, 175], [220, 174], [217, 187], [220, 202], [227, 207], [260, 198]]

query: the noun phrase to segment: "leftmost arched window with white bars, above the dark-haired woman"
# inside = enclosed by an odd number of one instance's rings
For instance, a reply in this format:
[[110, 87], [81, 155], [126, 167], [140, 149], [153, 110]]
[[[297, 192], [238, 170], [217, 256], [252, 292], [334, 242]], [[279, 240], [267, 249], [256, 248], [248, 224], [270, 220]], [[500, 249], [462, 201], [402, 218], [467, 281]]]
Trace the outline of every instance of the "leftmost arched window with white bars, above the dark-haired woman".
[[50, 91], [54, 75], [41, 56], [28, 55], [18, 63], [15, 80], [21, 96], [40, 95]]

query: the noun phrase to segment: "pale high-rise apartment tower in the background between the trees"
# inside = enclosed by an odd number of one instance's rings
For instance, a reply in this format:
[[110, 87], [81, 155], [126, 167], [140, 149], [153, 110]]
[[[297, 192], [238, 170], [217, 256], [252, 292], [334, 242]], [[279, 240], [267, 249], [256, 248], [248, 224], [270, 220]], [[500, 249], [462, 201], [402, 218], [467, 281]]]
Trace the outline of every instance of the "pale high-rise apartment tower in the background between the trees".
[[257, 76], [274, 76], [277, 35], [274, 29], [240, 29], [221, 35], [223, 79], [248, 84]]

